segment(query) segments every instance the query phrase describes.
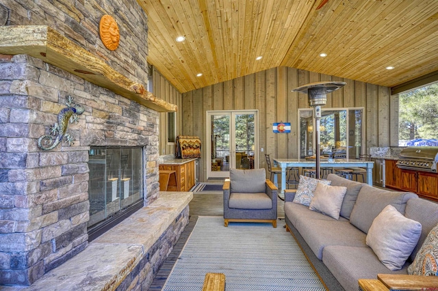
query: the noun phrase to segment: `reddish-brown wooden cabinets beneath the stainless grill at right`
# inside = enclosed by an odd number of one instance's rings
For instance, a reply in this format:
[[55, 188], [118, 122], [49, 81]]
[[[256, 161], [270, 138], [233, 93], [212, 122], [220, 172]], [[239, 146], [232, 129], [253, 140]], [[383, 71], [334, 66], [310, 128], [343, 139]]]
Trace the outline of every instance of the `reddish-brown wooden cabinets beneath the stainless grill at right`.
[[385, 185], [438, 200], [438, 174], [399, 169], [397, 161], [385, 160]]

